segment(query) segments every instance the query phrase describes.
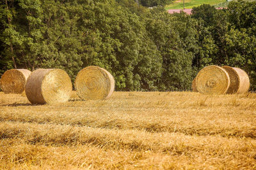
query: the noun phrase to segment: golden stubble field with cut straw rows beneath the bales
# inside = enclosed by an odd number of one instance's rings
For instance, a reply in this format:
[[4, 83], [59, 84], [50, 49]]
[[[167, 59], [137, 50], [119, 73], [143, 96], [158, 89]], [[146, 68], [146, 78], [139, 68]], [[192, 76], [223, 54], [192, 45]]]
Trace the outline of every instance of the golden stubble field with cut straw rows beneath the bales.
[[114, 92], [31, 105], [0, 93], [0, 169], [255, 169], [256, 94]]

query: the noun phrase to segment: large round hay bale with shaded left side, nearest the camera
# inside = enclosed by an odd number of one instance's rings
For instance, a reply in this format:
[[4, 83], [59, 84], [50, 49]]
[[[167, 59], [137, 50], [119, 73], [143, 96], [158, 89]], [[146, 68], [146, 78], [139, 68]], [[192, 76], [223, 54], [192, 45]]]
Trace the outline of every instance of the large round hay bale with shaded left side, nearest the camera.
[[25, 92], [32, 104], [59, 104], [70, 98], [72, 82], [61, 69], [38, 69], [28, 77]]

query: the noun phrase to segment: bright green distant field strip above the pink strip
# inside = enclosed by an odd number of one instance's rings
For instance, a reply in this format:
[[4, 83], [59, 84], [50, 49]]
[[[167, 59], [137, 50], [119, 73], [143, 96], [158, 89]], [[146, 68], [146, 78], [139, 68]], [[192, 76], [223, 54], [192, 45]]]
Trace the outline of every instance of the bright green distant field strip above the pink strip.
[[[225, 2], [225, 0], [185, 0], [185, 8], [191, 9], [194, 6], [200, 6], [201, 4], [216, 5]], [[166, 5], [166, 10], [170, 9], [183, 9], [183, 0], [176, 0], [173, 4]]]

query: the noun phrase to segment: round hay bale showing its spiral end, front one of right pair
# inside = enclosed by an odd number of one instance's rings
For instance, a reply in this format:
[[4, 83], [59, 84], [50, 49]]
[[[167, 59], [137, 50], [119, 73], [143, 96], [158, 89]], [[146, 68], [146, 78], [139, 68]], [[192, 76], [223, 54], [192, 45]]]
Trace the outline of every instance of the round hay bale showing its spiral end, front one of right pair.
[[195, 78], [196, 90], [204, 94], [225, 94], [229, 85], [228, 73], [220, 66], [205, 66]]

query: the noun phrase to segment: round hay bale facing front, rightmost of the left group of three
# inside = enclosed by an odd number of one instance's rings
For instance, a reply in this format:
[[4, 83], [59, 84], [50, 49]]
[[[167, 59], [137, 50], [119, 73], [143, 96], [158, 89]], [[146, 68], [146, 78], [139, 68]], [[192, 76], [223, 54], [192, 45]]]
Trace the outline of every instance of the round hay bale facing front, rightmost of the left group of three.
[[99, 66], [87, 66], [77, 73], [75, 88], [77, 95], [84, 100], [106, 99], [115, 89], [115, 79]]

